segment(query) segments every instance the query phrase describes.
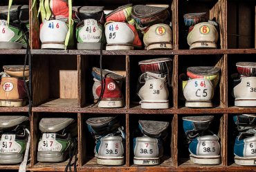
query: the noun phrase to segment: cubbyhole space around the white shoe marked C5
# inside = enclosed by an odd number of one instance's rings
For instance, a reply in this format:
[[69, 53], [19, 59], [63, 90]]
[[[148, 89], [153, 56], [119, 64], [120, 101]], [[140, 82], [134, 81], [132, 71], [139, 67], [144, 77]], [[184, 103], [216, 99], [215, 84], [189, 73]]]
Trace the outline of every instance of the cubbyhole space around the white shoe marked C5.
[[[189, 61], [189, 59], [192, 59]], [[203, 67], [203, 66], [212, 66], [219, 67], [221, 70], [219, 72], [219, 82], [217, 87], [214, 89], [214, 96], [212, 98], [212, 107], [211, 108], [221, 108], [223, 105], [223, 55], [190, 55], [190, 56], [179, 56], [179, 69], [178, 69], [178, 105], [180, 108], [185, 107], [185, 98], [183, 96], [183, 85], [182, 80], [180, 79], [181, 74], [187, 75], [188, 67]], [[196, 94], [196, 93], [192, 93]]]

